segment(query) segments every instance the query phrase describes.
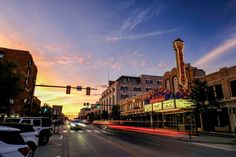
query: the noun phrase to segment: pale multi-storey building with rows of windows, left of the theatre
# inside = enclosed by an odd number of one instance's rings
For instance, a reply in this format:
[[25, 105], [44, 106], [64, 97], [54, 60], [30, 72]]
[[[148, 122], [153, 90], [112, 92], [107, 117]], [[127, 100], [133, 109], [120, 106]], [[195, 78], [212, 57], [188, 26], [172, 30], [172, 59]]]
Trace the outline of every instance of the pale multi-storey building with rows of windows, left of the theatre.
[[161, 79], [161, 76], [141, 75], [139, 77], [120, 76], [116, 81], [109, 81], [108, 88], [99, 99], [102, 110], [110, 113], [112, 106], [118, 105], [121, 100], [158, 88]]

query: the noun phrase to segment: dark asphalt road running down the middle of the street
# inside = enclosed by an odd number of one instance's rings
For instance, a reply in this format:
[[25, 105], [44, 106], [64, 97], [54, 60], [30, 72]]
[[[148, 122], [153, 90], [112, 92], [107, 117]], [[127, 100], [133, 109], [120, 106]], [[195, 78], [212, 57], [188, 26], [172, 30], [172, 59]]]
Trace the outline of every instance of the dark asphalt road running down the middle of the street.
[[87, 126], [62, 129], [35, 157], [235, 157], [236, 146], [194, 143], [171, 137]]

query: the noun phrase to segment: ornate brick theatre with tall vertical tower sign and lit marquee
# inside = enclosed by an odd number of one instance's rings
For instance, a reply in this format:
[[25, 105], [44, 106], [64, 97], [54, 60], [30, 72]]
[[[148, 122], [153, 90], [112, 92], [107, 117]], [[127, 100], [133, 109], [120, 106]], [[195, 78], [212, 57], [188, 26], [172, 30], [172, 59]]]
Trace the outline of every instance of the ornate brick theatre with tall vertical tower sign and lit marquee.
[[159, 127], [185, 130], [188, 123], [194, 124], [191, 103], [183, 98], [191, 90], [192, 81], [205, 75], [205, 71], [184, 63], [181, 39], [173, 42], [176, 67], [165, 72], [161, 88], [132, 97], [120, 103], [121, 115], [128, 119], [156, 121]]

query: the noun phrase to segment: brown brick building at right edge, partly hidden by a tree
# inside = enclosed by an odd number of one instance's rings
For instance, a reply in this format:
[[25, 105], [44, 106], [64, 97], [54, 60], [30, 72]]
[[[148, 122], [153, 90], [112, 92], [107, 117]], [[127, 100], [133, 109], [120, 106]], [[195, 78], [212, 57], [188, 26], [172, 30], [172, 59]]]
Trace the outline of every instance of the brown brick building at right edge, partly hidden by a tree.
[[[213, 94], [222, 102], [222, 108], [214, 110], [215, 120], [208, 125], [214, 131], [236, 131], [236, 66], [224, 67], [219, 71], [202, 76], [213, 91]], [[209, 126], [210, 125], [210, 126]]]

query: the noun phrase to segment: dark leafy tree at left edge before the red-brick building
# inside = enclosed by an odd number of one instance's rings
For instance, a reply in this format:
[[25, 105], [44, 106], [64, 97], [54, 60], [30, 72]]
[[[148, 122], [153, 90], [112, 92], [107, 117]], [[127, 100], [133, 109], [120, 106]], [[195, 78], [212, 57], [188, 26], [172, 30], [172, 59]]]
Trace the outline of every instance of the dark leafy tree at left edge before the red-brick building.
[[21, 75], [16, 73], [17, 65], [13, 62], [0, 62], [0, 112], [10, 115], [11, 99], [20, 94], [22, 88], [20, 86]]

